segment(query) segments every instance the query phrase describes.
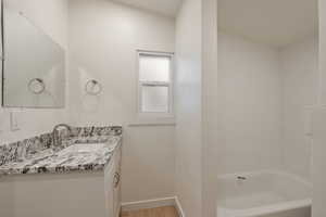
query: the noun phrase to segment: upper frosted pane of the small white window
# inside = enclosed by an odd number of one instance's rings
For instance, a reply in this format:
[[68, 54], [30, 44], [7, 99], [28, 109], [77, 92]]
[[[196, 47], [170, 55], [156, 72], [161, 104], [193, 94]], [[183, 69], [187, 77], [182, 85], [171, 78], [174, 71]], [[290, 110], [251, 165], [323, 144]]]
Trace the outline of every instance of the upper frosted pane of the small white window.
[[168, 81], [170, 63], [170, 56], [140, 54], [139, 79], [141, 81]]

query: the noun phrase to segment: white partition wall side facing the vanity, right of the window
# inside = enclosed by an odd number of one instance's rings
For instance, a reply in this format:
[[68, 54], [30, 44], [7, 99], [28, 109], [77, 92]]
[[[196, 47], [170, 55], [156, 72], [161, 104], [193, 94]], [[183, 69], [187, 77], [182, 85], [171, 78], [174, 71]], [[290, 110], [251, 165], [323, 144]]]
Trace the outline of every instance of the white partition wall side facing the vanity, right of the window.
[[176, 22], [176, 194], [187, 217], [202, 216], [201, 1]]

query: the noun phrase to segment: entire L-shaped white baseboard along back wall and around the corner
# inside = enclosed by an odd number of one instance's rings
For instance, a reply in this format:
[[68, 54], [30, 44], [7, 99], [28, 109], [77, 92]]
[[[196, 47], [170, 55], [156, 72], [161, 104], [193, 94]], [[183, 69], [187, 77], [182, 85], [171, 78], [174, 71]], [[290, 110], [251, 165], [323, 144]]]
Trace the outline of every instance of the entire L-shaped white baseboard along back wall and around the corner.
[[156, 208], [162, 206], [174, 206], [177, 209], [179, 217], [186, 217], [177, 196], [122, 203], [121, 209], [122, 212], [128, 212], [146, 208]]

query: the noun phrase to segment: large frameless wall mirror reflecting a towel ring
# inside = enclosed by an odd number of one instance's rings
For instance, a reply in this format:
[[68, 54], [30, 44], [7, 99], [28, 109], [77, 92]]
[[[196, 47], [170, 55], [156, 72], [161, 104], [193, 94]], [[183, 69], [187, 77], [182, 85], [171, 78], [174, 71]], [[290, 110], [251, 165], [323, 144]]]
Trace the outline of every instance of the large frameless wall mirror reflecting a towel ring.
[[63, 107], [64, 50], [10, 0], [2, 3], [2, 105]]

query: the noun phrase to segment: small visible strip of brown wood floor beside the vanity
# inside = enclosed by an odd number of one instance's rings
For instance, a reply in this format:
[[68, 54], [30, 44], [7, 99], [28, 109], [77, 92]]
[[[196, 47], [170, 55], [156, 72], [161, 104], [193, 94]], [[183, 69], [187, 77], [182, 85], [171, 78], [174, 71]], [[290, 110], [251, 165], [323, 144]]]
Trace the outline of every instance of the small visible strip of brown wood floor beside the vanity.
[[121, 217], [178, 217], [174, 206], [123, 212]]

